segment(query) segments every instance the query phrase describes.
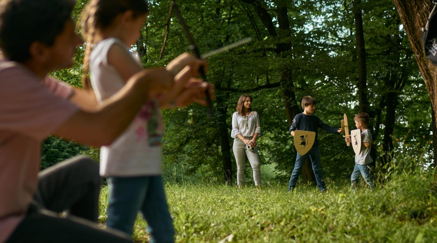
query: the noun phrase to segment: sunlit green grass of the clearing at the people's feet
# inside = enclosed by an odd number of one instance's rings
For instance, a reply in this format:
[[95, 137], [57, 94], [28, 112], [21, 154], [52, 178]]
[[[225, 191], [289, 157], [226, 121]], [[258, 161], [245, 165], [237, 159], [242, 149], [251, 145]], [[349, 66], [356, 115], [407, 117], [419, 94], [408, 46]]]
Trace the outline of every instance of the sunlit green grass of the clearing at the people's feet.
[[[267, 170], [266, 170], [267, 171]], [[266, 181], [267, 179], [270, 180]], [[202, 182], [167, 182], [166, 195], [177, 242], [434, 242], [437, 239], [437, 187], [431, 173], [392, 176], [369, 190], [330, 181], [316, 186], [263, 178], [263, 189]], [[107, 189], [101, 192], [106, 219]], [[147, 242], [139, 215], [134, 240]]]

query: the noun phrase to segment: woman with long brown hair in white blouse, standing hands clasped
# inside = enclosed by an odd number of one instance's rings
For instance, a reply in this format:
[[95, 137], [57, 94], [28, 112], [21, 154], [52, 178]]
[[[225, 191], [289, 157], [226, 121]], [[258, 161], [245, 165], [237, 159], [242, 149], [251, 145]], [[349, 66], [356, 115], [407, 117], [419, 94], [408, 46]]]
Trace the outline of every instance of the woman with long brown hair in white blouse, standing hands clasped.
[[[249, 159], [253, 170], [255, 187], [261, 189], [260, 159], [258, 157], [257, 137], [260, 135], [260, 117], [252, 111], [252, 97], [243, 94], [238, 99], [236, 112], [232, 115], [231, 137], [235, 138], [232, 150], [237, 162], [237, 185], [244, 185], [244, 169], [246, 157]], [[254, 148], [254, 149], [253, 149]]]

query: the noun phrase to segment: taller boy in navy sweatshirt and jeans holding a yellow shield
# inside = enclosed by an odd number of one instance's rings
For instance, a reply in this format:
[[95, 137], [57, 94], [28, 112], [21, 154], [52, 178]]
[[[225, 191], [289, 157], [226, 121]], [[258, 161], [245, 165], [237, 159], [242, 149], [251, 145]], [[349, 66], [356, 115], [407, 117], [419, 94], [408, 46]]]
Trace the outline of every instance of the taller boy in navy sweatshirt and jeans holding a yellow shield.
[[312, 115], [312, 113], [314, 113], [314, 110], [316, 110], [316, 100], [311, 96], [304, 96], [302, 98], [301, 105], [304, 112], [295, 116], [288, 132], [291, 134], [291, 136], [294, 137], [295, 130], [312, 131], [316, 133], [316, 138], [308, 153], [304, 154], [303, 156], [297, 153], [295, 168], [293, 169], [290, 181], [288, 182], [288, 191], [291, 191], [296, 187], [296, 182], [298, 181], [303, 165], [305, 164], [305, 159], [309, 156], [312, 164], [312, 170], [314, 171], [314, 175], [316, 176], [317, 185], [319, 186], [321, 192], [325, 192], [326, 185], [322, 174], [322, 164], [320, 162], [320, 150], [319, 141], [317, 140], [317, 130], [320, 127], [329, 133], [335, 134], [340, 134], [340, 132], [342, 131], [341, 129], [326, 125], [325, 123], [323, 123], [322, 120], [320, 120], [319, 117]]

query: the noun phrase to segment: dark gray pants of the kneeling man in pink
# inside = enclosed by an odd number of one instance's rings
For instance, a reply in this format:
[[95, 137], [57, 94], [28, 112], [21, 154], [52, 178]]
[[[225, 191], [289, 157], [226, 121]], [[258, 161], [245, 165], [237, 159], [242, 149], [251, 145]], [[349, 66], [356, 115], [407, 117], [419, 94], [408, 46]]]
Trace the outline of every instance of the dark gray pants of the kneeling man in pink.
[[[100, 175], [94, 161], [73, 157], [42, 170], [38, 180], [34, 200], [7, 243], [132, 243], [114, 229], [109, 232], [97, 226]], [[65, 209], [69, 215], [60, 218], [59, 212]]]

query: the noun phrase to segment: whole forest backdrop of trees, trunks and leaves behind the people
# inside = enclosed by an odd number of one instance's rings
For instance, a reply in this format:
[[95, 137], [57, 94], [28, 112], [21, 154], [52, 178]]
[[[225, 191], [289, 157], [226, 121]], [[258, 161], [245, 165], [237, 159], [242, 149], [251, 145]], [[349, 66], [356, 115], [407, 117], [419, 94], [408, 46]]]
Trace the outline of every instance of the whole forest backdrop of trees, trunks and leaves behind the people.
[[[86, 3], [76, 1], [75, 21]], [[189, 51], [171, 1], [149, 0], [149, 8], [142, 37], [132, 47], [145, 68], [166, 65]], [[370, 114], [375, 172], [387, 178], [396, 161], [406, 157], [416, 161], [409, 167], [435, 168], [430, 96], [392, 0], [192, 0], [181, 1], [179, 8], [201, 53], [246, 37], [254, 40], [208, 59], [208, 82], [215, 86], [213, 118], [197, 104], [162, 111], [164, 178], [235, 183], [231, 117], [242, 93], [253, 97], [260, 116], [260, 162], [271, 164], [279, 181], [287, 180], [295, 162], [288, 128], [306, 95], [317, 101], [315, 115], [333, 127], [340, 127], [343, 113], [350, 129], [355, 129], [355, 114]], [[74, 61], [72, 68], [51, 75], [81, 87], [83, 46]], [[344, 138], [320, 131], [319, 142], [326, 178], [349, 180], [354, 153]], [[42, 168], [76, 154], [98, 161], [98, 153], [49, 137]], [[246, 174], [250, 183], [250, 170]], [[310, 167], [303, 180], [314, 181]]]

